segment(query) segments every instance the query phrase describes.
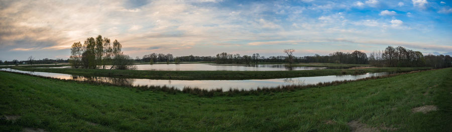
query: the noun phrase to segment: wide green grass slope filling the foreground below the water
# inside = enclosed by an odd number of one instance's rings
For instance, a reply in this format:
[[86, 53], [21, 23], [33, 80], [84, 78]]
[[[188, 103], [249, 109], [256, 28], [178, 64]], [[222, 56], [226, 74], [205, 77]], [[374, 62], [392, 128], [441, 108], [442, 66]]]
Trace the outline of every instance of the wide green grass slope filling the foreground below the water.
[[[452, 129], [452, 68], [260, 95], [199, 97], [0, 72], [0, 131], [395, 131]], [[413, 113], [436, 105], [439, 110]], [[326, 124], [327, 120], [333, 123]]]

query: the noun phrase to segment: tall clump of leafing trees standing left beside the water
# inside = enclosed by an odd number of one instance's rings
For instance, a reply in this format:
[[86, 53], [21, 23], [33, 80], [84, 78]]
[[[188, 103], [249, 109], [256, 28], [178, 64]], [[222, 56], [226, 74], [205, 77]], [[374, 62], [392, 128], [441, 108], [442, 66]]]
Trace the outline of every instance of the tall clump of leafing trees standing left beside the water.
[[122, 45], [114, 40], [112, 45], [110, 39], [98, 35], [96, 38], [88, 37], [84, 41], [74, 42], [71, 46], [69, 63], [75, 68], [106, 68], [130, 69], [131, 57], [121, 51]]

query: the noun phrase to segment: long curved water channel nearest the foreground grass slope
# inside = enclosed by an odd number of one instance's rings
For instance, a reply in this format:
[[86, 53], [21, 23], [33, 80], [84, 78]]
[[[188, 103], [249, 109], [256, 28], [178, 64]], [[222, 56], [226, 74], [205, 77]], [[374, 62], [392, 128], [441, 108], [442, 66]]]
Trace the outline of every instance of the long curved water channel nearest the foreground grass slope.
[[229, 90], [230, 88], [249, 90], [256, 89], [257, 87], [275, 87], [280, 85], [291, 85], [291, 84], [300, 84], [300, 85], [316, 84], [318, 82], [330, 82], [335, 80], [356, 80], [371, 76], [381, 76], [388, 74], [388, 72], [378, 72], [378, 73], [366, 73], [361, 75], [327, 75], [313, 77], [251, 79], [251, 80], [160, 80], [160, 79], [134, 79], [134, 78], [113, 78], [113, 77], [85, 77], [61, 73], [22, 71], [11, 68], [0, 68], [0, 70], [28, 73], [33, 75], [54, 77], [60, 79], [93, 80], [115, 84], [160, 85], [160, 86], [166, 85], [173, 86], [178, 89], [183, 89], [185, 86], [188, 86], [203, 89], [222, 88], [223, 90]]

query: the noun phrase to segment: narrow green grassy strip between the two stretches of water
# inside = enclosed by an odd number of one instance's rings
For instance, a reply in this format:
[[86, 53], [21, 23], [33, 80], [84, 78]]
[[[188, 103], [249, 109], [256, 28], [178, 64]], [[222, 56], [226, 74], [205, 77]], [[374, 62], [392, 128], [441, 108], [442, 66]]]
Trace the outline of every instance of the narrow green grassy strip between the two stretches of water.
[[366, 72], [407, 72], [430, 69], [430, 67], [379, 67], [365, 69], [315, 69], [286, 71], [168, 71], [168, 70], [110, 70], [110, 69], [74, 69], [74, 68], [30, 68], [15, 66], [19, 70], [66, 73], [85, 76], [149, 78], [149, 79], [270, 79], [302, 76], [360, 74]]

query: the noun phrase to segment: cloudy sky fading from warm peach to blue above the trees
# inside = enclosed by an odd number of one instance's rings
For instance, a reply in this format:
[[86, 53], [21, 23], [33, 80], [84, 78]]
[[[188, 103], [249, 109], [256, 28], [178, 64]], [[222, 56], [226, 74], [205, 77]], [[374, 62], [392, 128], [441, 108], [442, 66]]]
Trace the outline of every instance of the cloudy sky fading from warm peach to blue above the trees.
[[87, 37], [130, 56], [261, 56], [404, 46], [452, 54], [452, 0], [0, 0], [0, 60], [68, 58]]

